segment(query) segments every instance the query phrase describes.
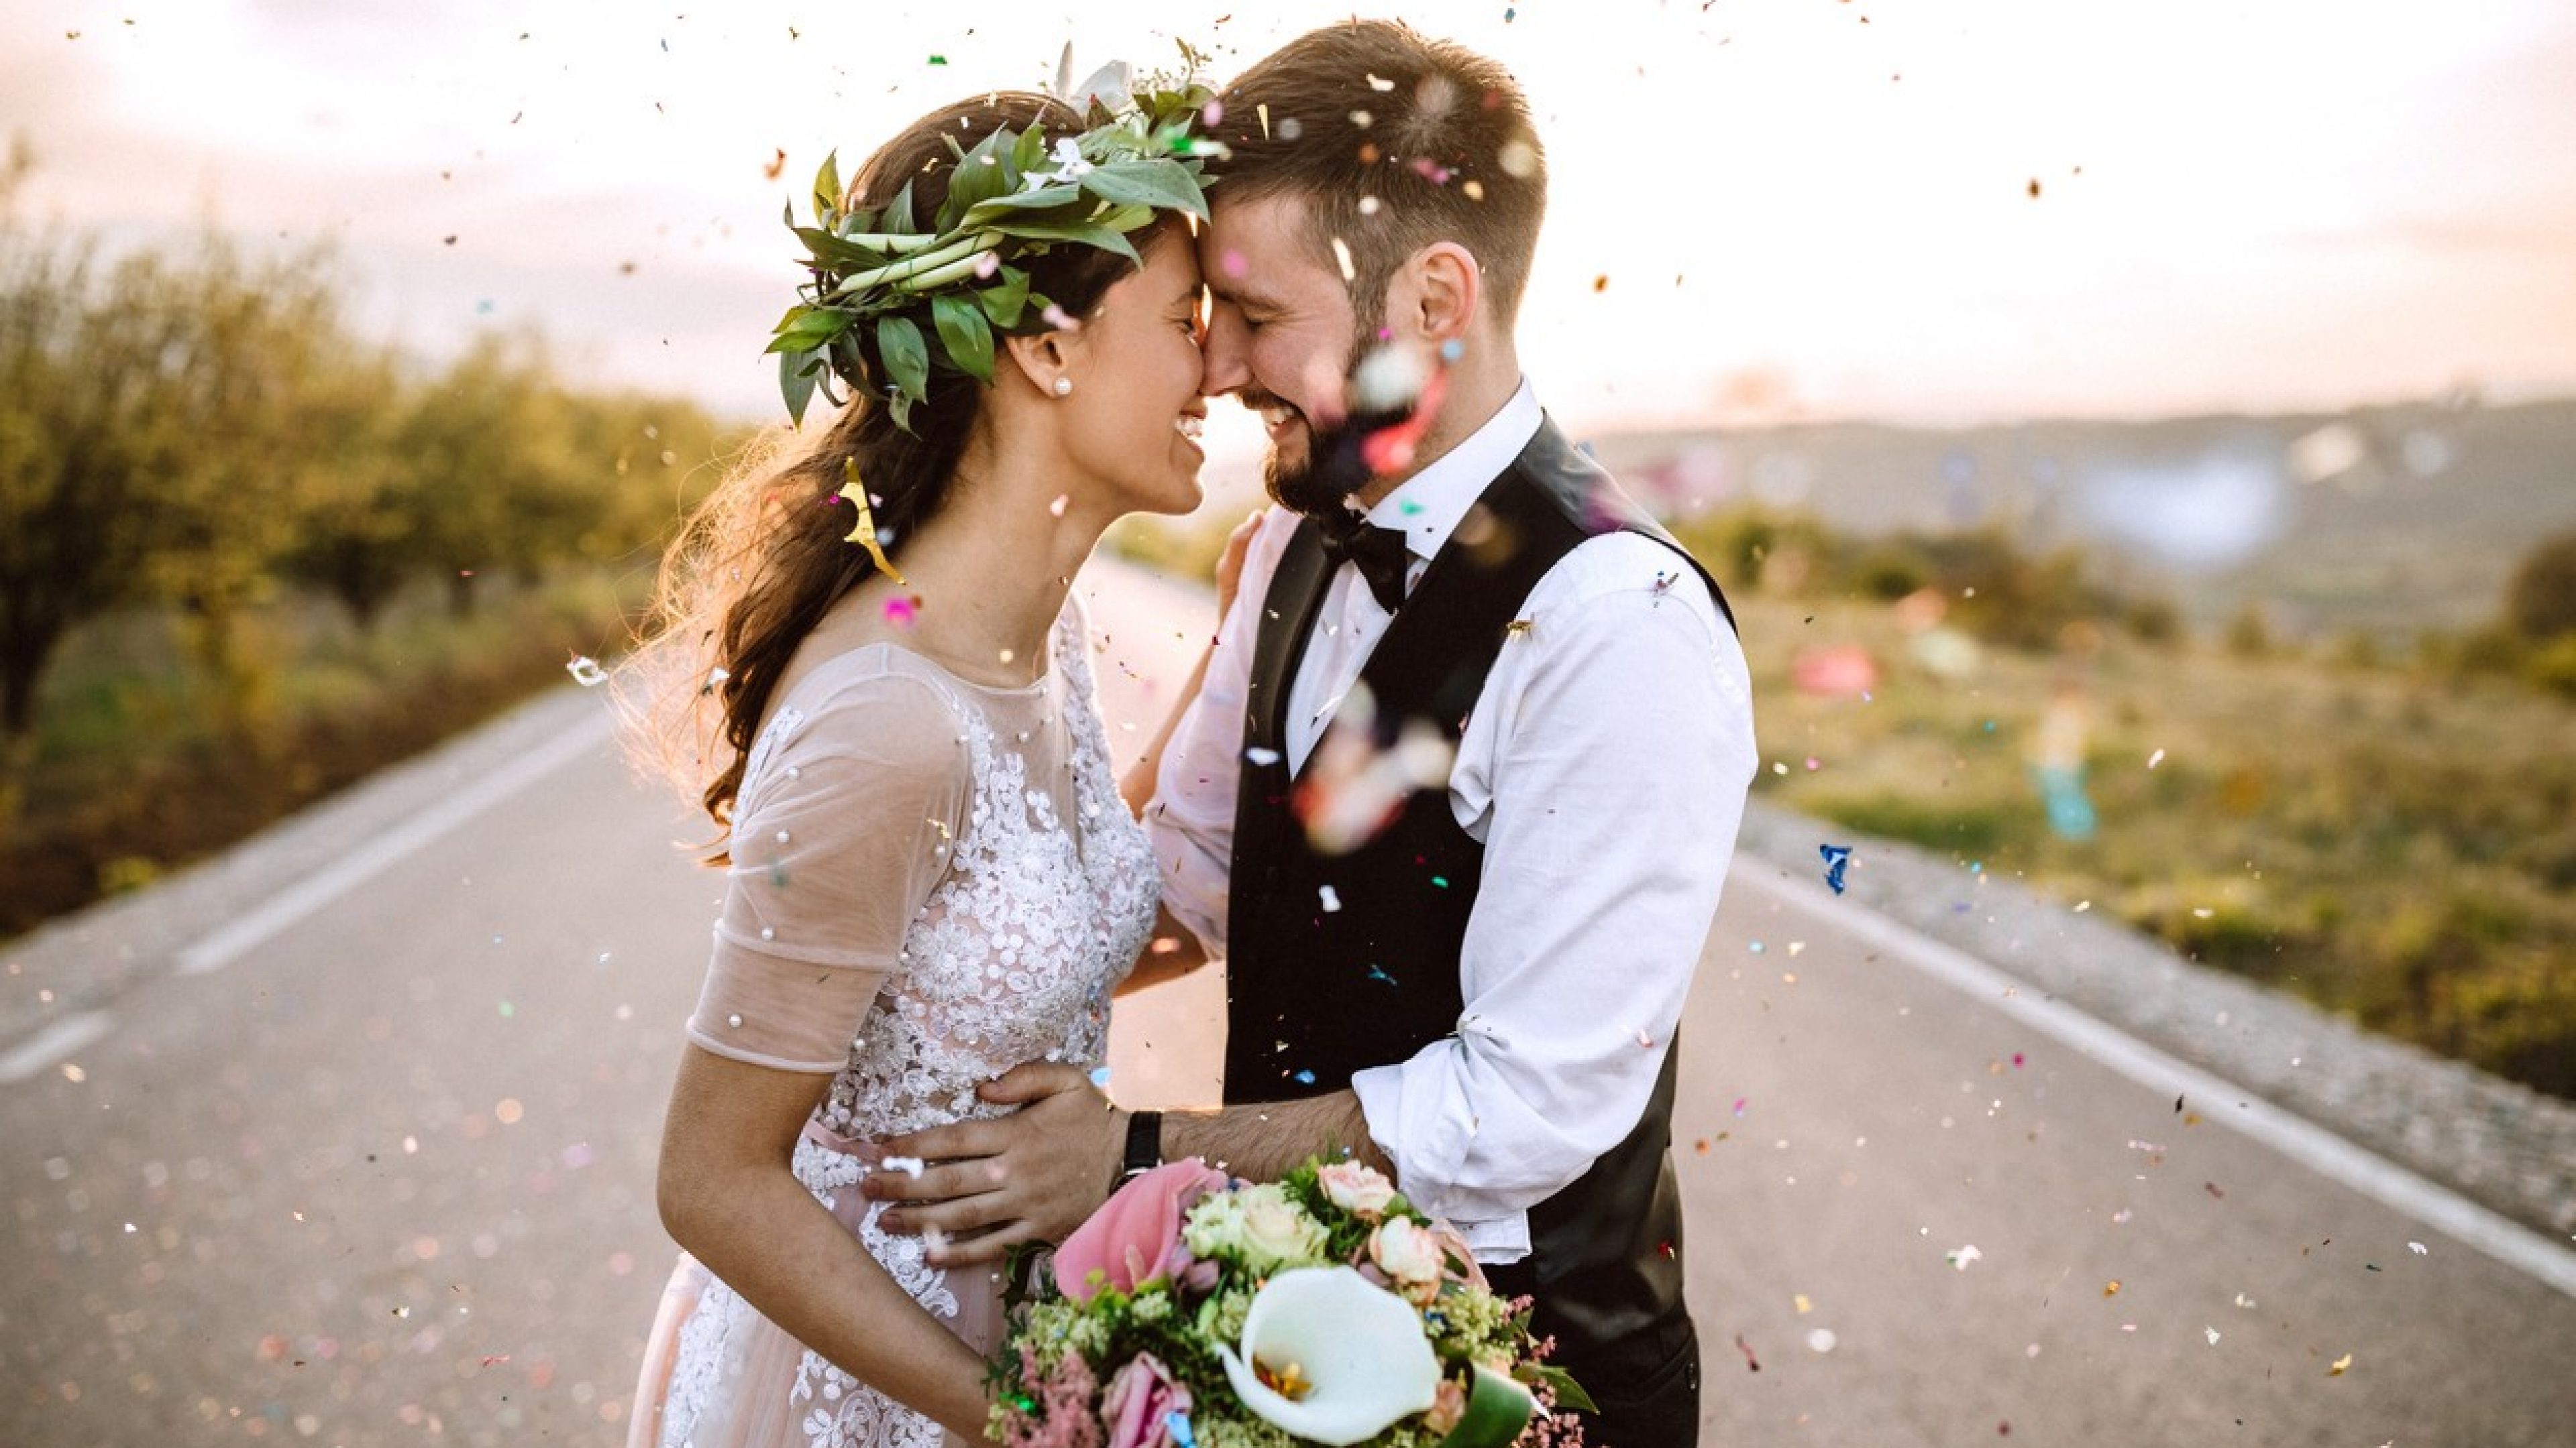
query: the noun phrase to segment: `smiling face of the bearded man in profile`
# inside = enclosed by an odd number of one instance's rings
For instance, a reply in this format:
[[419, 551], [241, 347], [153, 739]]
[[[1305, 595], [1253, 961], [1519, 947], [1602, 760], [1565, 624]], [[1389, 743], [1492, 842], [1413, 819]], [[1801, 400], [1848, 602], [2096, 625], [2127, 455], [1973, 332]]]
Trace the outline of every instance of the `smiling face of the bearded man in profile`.
[[1309, 513], [1334, 502], [1316, 492], [1347, 484], [1316, 479], [1316, 433], [1342, 423], [1345, 384], [1365, 338], [1340, 268], [1306, 245], [1306, 204], [1216, 196], [1198, 234], [1198, 265], [1211, 294], [1206, 392], [1262, 417], [1273, 497]]

